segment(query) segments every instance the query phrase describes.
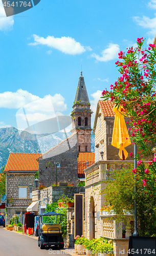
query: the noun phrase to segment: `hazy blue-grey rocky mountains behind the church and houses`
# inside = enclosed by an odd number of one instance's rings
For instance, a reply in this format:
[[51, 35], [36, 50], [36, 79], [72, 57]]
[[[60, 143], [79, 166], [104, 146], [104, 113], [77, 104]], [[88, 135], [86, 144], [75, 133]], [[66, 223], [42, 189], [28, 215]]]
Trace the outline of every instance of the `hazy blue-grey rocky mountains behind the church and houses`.
[[[7, 127], [0, 129], [0, 168], [5, 166], [9, 158], [9, 153], [45, 153], [50, 148], [56, 146], [62, 140], [71, 135], [69, 133], [57, 132], [55, 134], [39, 134], [31, 135], [23, 132], [15, 127]], [[94, 152], [94, 135], [91, 136], [91, 148]]]

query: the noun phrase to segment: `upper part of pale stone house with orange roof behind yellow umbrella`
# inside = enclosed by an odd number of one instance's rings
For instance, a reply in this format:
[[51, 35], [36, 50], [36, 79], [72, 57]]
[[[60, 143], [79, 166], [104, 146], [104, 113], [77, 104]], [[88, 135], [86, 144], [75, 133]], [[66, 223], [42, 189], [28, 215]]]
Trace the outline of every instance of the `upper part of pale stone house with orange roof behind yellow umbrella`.
[[[93, 134], [95, 134], [95, 162], [102, 160], [100, 152], [103, 151], [103, 160], [119, 160], [119, 149], [112, 146], [112, 135], [115, 120], [115, 113], [113, 111], [114, 103], [110, 100], [99, 100], [95, 115]], [[125, 122], [129, 118], [124, 118]], [[129, 125], [126, 124], [127, 129]], [[129, 131], [130, 132], [130, 131]], [[131, 160], [129, 155], [133, 152], [133, 144], [126, 147], [128, 157], [126, 160]]]

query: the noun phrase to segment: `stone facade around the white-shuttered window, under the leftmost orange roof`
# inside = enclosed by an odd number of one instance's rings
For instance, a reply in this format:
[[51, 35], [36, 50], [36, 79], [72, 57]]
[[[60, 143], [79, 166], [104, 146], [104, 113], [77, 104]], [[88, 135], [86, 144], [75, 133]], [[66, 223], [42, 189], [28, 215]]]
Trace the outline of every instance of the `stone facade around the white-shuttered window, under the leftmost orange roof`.
[[[12, 176], [13, 175], [13, 176]], [[8, 176], [8, 199], [18, 199], [19, 187], [27, 187], [27, 199], [30, 199], [29, 184], [33, 185], [32, 190], [35, 190], [35, 172], [34, 173], [9, 173], [6, 174], [6, 188], [7, 188], [7, 176]], [[12, 176], [12, 177], [9, 177]]]

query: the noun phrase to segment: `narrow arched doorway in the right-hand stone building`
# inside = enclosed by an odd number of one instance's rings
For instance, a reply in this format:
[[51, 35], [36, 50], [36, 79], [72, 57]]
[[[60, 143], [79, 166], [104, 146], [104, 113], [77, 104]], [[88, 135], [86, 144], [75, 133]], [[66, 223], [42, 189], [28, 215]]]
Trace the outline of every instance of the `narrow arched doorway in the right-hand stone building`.
[[94, 198], [90, 198], [90, 225], [89, 225], [89, 233], [90, 239], [95, 238], [95, 202]]

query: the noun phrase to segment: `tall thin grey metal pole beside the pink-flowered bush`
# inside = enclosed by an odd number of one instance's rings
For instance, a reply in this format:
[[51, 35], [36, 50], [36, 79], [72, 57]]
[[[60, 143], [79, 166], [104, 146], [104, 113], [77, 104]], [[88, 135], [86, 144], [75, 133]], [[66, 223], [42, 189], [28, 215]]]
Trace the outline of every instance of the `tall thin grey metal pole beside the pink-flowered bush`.
[[[137, 168], [137, 144], [134, 145], [134, 167]], [[135, 195], [137, 193], [137, 186], [136, 186], [136, 177], [135, 177]], [[137, 226], [137, 200], [135, 199], [135, 230], [133, 232], [133, 237], [139, 237], [138, 233], [138, 226]]]

